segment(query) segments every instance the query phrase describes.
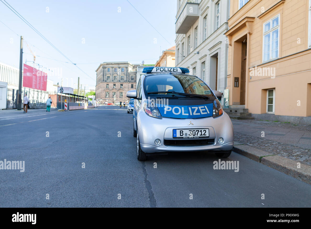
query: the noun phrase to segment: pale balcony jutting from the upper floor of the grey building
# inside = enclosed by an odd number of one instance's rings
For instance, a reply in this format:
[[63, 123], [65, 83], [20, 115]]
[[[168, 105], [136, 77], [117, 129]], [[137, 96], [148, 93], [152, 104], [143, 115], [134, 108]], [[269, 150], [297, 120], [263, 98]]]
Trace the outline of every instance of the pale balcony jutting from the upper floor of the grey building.
[[199, 3], [187, 2], [175, 23], [175, 32], [186, 34], [199, 18]]

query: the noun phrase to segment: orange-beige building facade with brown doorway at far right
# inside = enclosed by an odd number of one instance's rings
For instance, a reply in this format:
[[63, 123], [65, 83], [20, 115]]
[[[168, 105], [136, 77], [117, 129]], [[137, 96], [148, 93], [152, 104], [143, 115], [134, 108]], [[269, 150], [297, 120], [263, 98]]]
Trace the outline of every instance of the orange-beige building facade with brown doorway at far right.
[[231, 1], [228, 26], [229, 105], [311, 124], [311, 0]]

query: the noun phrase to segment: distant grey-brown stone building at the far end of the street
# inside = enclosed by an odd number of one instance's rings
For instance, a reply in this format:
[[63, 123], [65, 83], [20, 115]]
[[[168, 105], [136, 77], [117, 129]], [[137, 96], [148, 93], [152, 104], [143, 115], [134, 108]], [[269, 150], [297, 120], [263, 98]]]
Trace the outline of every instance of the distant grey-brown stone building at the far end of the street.
[[104, 62], [96, 69], [95, 99], [100, 104], [127, 102], [126, 93], [136, 88], [137, 66], [130, 62]]

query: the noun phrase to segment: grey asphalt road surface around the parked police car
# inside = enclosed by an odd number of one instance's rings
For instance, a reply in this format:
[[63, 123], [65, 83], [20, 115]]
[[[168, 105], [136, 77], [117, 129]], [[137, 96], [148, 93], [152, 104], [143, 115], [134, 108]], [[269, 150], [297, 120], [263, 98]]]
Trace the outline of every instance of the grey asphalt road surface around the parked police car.
[[0, 170], [0, 207], [311, 207], [309, 184], [239, 154], [239, 172], [202, 152], [140, 162], [135, 140], [126, 107], [0, 111], [0, 160], [25, 161]]

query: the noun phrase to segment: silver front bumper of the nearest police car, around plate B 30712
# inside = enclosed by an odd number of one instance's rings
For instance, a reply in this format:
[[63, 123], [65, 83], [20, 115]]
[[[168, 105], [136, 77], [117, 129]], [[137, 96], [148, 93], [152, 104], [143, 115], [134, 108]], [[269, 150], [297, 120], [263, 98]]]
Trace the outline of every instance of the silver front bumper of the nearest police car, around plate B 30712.
[[[193, 125], [188, 125], [189, 121]], [[165, 140], [176, 140], [173, 138], [172, 130], [176, 128], [208, 128], [209, 137], [205, 138], [213, 143], [207, 145], [181, 146], [165, 145]], [[210, 151], [210, 150], [232, 150], [234, 145], [234, 131], [230, 117], [224, 112], [217, 118], [206, 117], [196, 119], [162, 118], [157, 119], [146, 115], [140, 110], [137, 114], [137, 130], [141, 148], [145, 153], [176, 152], [176, 151]], [[223, 144], [217, 139], [222, 137]], [[155, 140], [160, 139], [161, 144], [157, 146]], [[188, 140], [183, 140], [188, 141]], [[166, 141], [167, 142], [167, 141]]]

